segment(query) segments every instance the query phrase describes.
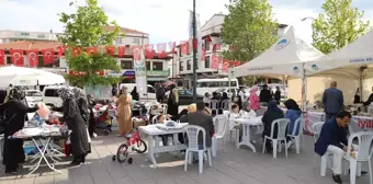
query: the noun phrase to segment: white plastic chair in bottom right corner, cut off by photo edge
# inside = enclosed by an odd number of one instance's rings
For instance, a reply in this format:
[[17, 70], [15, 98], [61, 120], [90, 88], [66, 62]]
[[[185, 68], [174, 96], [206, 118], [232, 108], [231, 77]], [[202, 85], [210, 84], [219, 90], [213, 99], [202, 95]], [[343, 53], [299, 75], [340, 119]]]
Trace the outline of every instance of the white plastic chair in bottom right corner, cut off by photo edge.
[[[358, 139], [358, 147], [357, 156], [355, 158], [351, 157], [351, 148], [353, 148], [352, 141], [353, 139]], [[348, 143], [348, 151], [343, 156], [343, 159], [350, 162], [350, 183], [355, 184], [357, 182], [357, 173], [358, 173], [358, 166], [360, 169], [361, 162], [368, 162], [369, 164], [369, 179], [370, 184], [373, 184], [372, 181], [372, 164], [371, 164], [371, 157], [373, 149], [371, 148], [371, 143], [373, 140], [373, 133], [372, 131], [359, 131], [351, 134], [349, 137], [349, 143]], [[347, 170], [344, 170], [347, 171]], [[344, 174], [347, 174], [344, 172]]]

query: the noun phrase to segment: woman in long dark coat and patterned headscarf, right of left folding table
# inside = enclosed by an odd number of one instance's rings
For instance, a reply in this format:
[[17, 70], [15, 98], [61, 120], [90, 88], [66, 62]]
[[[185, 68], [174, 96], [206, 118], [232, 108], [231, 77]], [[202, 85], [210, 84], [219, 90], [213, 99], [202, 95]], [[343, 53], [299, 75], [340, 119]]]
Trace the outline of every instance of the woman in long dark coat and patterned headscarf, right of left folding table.
[[59, 97], [63, 100], [61, 122], [65, 122], [70, 134], [70, 146], [74, 160], [72, 165], [79, 165], [86, 162], [86, 156], [89, 151], [89, 141], [87, 134], [87, 126], [83, 117], [81, 116], [80, 108], [76, 102], [74, 92], [69, 88], [61, 88], [57, 91]]

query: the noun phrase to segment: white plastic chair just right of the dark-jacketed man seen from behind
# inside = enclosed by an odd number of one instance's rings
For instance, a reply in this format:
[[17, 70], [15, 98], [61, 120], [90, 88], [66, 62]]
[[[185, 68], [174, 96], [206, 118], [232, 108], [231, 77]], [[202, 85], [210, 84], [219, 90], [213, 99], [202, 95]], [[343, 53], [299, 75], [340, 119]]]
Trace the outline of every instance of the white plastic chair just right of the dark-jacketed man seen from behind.
[[[214, 126], [217, 131], [215, 133], [215, 136], [213, 137], [213, 157], [216, 157], [217, 151], [217, 139], [223, 139], [223, 150], [225, 148], [225, 133], [228, 127], [228, 118], [225, 115], [218, 115], [214, 119]], [[217, 128], [216, 128], [217, 127]]]

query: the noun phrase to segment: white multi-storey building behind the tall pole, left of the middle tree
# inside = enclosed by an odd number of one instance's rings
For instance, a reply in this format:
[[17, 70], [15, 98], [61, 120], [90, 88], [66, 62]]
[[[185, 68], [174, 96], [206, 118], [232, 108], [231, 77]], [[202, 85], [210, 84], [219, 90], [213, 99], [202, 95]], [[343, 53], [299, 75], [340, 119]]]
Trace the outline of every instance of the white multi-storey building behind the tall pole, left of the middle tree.
[[[212, 55], [221, 55], [225, 48], [222, 45], [221, 28], [224, 23], [224, 14], [214, 14], [203, 26], [202, 26], [202, 47], [205, 49], [205, 60], [197, 61], [197, 78], [219, 78], [227, 77], [228, 73], [221, 69], [211, 69]], [[279, 24], [278, 33], [275, 36], [281, 37], [285, 33], [287, 25]], [[207, 41], [211, 38], [211, 41]], [[214, 44], [221, 44], [219, 48], [213, 48]], [[223, 61], [221, 61], [221, 66]], [[178, 79], [178, 84], [182, 83], [185, 88], [192, 88], [193, 79], [193, 56], [192, 53], [188, 56], [181, 54], [180, 46], [177, 47], [177, 54], [173, 56], [172, 65], [172, 77]], [[222, 68], [222, 67], [221, 67]]]

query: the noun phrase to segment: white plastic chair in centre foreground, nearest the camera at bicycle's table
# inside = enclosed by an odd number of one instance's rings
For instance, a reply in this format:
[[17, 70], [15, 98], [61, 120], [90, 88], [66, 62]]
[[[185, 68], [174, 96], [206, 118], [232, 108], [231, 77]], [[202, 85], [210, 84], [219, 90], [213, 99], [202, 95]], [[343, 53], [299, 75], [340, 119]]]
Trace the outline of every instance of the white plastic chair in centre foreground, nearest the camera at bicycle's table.
[[[206, 130], [203, 127], [195, 125], [188, 125], [184, 127], [188, 136], [188, 148], [185, 151], [184, 170], [187, 171], [188, 164], [192, 163], [193, 152], [199, 153], [199, 172], [203, 172], [203, 154], [207, 151], [208, 165], [213, 166], [211, 158], [211, 148], [206, 148]], [[199, 134], [203, 135], [203, 147], [199, 148]]]

